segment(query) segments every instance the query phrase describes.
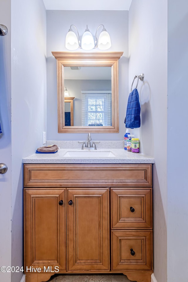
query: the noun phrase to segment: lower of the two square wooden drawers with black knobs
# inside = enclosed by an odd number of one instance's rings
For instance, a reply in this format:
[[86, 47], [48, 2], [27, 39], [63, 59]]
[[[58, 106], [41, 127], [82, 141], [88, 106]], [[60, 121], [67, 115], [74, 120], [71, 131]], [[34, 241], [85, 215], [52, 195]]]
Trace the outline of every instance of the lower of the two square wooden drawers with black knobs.
[[152, 270], [152, 231], [112, 231], [112, 271]]

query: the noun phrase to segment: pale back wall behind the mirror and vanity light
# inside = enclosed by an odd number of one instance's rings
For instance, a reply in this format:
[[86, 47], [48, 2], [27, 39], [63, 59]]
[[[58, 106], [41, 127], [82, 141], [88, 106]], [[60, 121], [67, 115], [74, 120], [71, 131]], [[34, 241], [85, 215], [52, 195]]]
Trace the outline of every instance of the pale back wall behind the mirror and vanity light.
[[[47, 11], [47, 140], [84, 140], [86, 133], [58, 133], [57, 121], [57, 70], [56, 59], [51, 51], [68, 51], [66, 34], [74, 24], [83, 35], [86, 24], [95, 34], [104, 24], [110, 34], [112, 46], [107, 51], [123, 51], [119, 60], [119, 133], [92, 133], [93, 140], [123, 140], [128, 93], [128, 11]], [[122, 33], [123, 31], [123, 33]], [[78, 49], [76, 51], [83, 51]], [[99, 49], [93, 49], [99, 52]]]

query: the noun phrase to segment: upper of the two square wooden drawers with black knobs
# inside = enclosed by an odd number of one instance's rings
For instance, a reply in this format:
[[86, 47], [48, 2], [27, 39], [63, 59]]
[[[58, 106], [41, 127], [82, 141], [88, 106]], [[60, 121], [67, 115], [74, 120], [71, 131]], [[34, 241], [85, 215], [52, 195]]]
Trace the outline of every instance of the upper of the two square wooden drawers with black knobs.
[[111, 188], [111, 228], [152, 228], [152, 190]]

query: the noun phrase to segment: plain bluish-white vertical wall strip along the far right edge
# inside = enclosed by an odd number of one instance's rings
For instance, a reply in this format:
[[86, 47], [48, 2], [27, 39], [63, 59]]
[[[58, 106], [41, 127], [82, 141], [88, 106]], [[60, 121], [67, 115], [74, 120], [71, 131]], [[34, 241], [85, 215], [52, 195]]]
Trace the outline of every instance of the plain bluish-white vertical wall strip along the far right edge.
[[[168, 224], [169, 282], [188, 280], [187, 66], [188, 2], [168, 1]], [[178, 132], [178, 137], [177, 135]]]

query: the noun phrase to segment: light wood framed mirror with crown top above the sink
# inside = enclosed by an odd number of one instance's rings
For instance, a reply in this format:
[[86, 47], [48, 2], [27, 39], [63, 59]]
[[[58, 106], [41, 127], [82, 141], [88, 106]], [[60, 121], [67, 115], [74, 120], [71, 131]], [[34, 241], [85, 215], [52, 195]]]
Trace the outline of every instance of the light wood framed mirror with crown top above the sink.
[[[119, 132], [118, 60], [123, 52], [52, 54], [57, 60], [58, 132]], [[70, 125], [65, 121], [70, 98], [64, 97], [65, 87], [75, 97]]]

